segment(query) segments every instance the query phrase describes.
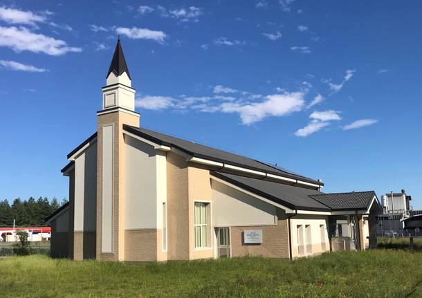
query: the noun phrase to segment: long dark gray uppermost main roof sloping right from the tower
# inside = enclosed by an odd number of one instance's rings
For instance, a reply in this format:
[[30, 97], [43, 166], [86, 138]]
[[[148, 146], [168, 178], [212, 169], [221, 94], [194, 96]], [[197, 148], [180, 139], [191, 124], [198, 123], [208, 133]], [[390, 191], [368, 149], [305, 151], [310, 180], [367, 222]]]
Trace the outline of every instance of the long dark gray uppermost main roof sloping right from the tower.
[[219, 149], [214, 149], [212, 147], [196, 144], [181, 138], [175, 138], [173, 136], [167, 136], [163, 133], [158, 133], [156, 131], [150, 131], [148, 129], [131, 127], [129, 125], [124, 125], [123, 129], [131, 133], [136, 134], [137, 136], [146, 138], [152, 142], [155, 142], [159, 145], [164, 145], [168, 147], [176, 147], [177, 149], [184, 151], [197, 158], [206, 158], [208, 160], [214, 160], [217, 162], [228, 163], [230, 165], [235, 165], [239, 167], [245, 167], [248, 169], [254, 169], [256, 171], [265, 171], [269, 174], [284, 176], [287, 178], [299, 179], [308, 183], [314, 183], [316, 185], [324, 185], [318, 180], [307, 178], [298, 174], [294, 174], [291, 171], [281, 169], [272, 165], [268, 165], [264, 162], [254, 160], [253, 158], [247, 158], [245, 156], [240, 156], [234, 153], [227, 151], [222, 151]]

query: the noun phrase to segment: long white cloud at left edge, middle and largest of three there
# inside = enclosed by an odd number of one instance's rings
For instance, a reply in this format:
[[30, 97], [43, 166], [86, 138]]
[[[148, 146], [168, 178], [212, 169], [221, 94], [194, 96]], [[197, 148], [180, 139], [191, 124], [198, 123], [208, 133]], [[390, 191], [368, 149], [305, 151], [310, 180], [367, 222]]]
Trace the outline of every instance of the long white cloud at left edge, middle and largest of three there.
[[15, 52], [29, 50], [33, 53], [55, 56], [68, 52], [82, 52], [82, 48], [68, 46], [66, 41], [36, 34], [22, 27], [0, 27], [0, 46], [12, 48]]

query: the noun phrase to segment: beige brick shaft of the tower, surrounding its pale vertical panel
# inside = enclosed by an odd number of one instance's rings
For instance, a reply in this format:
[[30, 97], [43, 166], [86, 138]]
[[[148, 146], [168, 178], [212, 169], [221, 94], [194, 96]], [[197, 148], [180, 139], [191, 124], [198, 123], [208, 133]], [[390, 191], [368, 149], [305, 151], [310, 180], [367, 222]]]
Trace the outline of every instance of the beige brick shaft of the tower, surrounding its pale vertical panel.
[[[113, 252], [102, 253], [102, 127], [114, 124], [113, 147]], [[109, 261], [125, 260], [125, 142], [123, 124], [139, 127], [137, 115], [116, 111], [98, 116], [98, 160], [97, 160], [97, 259]]]

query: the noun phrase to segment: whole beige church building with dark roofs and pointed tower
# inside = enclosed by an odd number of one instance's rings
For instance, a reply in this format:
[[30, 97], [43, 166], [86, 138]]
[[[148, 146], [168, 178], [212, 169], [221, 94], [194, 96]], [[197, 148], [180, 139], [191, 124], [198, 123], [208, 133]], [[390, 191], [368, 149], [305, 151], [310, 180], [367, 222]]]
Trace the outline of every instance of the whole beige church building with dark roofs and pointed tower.
[[52, 257], [296, 258], [376, 246], [375, 192], [324, 194], [320, 180], [143, 129], [135, 92], [118, 40], [97, 131], [62, 169], [69, 202], [46, 218]]

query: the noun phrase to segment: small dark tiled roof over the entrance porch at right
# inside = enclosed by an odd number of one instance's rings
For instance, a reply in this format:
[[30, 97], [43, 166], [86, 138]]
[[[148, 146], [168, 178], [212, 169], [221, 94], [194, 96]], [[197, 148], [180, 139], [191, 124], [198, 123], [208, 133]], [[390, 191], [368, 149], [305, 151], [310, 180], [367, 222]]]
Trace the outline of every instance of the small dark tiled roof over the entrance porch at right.
[[374, 196], [376, 197], [374, 191], [311, 195], [316, 201], [333, 210], [366, 210], [369, 208]]

